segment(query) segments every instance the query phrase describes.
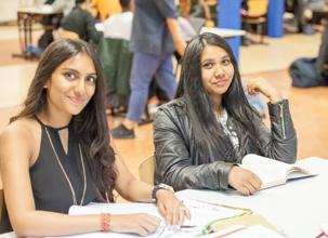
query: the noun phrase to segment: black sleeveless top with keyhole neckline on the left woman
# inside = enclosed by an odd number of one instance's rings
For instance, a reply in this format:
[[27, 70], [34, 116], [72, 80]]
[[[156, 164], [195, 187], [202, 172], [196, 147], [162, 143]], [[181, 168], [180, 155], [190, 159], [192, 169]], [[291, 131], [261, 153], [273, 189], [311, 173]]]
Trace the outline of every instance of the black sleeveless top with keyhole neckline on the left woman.
[[[54, 149], [73, 185], [77, 203], [80, 204], [84, 182], [78, 138], [74, 134], [71, 123], [64, 128], [55, 129], [43, 124], [38, 118], [36, 119], [42, 128], [40, 153], [37, 161], [29, 169], [36, 210], [68, 213], [69, 207], [74, 204], [73, 194], [52, 149], [45, 129], [50, 134]], [[58, 135], [58, 131], [66, 128], [68, 128], [67, 154], [64, 150]], [[86, 158], [83, 158], [83, 161], [87, 189], [82, 204], [88, 204], [91, 201], [96, 201], [96, 189]], [[24, 198], [22, 197], [22, 199]], [[3, 201], [0, 234], [8, 232], [12, 232], [12, 226], [9, 221], [5, 202]]]

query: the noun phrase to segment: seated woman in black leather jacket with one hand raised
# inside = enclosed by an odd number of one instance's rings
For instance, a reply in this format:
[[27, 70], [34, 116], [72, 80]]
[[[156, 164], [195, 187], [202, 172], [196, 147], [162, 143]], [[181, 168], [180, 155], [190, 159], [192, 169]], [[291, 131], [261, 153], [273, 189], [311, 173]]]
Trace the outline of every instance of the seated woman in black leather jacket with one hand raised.
[[202, 34], [185, 51], [176, 100], [154, 123], [156, 182], [175, 189], [237, 189], [251, 195], [261, 181], [238, 167], [247, 154], [292, 163], [297, 136], [288, 101], [262, 78], [247, 85], [268, 98], [271, 130], [248, 103], [236, 60], [219, 36]]

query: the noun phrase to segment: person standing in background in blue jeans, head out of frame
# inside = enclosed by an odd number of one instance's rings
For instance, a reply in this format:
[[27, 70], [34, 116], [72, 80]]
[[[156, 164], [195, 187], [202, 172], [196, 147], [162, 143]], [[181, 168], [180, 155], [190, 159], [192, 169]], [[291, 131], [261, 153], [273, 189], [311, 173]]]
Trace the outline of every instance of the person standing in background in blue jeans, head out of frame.
[[170, 98], [174, 97], [176, 79], [172, 55], [183, 55], [185, 42], [178, 25], [179, 13], [174, 0], [135, 0], [131, 50], [134, 53], [128, 115], [111, 131], [115, 138], [134, 138], [133, 128], [141, 120], [153, 77]]

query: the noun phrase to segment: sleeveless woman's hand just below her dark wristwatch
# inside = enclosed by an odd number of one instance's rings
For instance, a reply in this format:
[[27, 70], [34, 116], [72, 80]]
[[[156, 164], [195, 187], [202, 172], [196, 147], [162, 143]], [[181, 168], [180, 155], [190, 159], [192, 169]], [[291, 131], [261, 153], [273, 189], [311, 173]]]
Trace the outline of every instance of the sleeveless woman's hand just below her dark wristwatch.
[[172, 191], [159, 189], [156, 197], [159, 213], [165, 217], [167, 225], [182, 225], [185, 219], [191, 219], [191, 211]]

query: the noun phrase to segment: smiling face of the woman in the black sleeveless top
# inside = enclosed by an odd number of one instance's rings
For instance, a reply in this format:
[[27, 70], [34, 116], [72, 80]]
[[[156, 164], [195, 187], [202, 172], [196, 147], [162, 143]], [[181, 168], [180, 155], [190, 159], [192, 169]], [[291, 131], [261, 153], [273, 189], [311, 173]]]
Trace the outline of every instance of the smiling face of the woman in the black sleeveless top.
[[78, 115], [95, 92], [92, 60], [79, 53], [62, 63], [47, 82], [47, 107], [63, 117]]

